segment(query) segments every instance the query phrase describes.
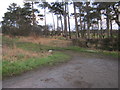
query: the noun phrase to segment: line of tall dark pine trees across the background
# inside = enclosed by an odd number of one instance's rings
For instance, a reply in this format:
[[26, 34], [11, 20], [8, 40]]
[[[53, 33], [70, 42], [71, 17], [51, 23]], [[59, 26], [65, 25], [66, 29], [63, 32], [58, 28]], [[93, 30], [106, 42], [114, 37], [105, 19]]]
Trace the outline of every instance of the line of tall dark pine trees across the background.
[[[38, 8], [44, 10], [44, 13]], [[73, 7], [74, 13], [69, 13], [69, 7]], [[113, 22], [120, 26], [119, 2], [32, 2], [25, 1], [20, 7], [12, 3], [4, 14], [2, 32], [13, 36], [27, 35], [63, 35], [71, 39], [75, 38], [110, 38], [118, 37], [120, 30], [113, 30]], [[47, 11], [53, 15], [53, 25], [47, 25]], [[55, 18], [57, 17], [57, 23]], [[44, 25], [38, 25], [36, 18], [44, 20]], [[75, 20], [75, 33], [71, 30], [70, 18]], [[104, 22], [104, 23], [103, 23]], [[55, 24], [57, 28], [55, 28]], [[103, 24], [106, 29], [103, 30]], [[96, 28], [96, 29], [94, 29]], [[119, 33], [116, 35], [116, 33]]]

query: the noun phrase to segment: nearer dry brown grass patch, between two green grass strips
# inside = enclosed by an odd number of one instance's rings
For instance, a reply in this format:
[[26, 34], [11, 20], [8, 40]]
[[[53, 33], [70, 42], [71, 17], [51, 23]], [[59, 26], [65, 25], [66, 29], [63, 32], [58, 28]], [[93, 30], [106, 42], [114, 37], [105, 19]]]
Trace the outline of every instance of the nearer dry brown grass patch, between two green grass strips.
[[8, 61], [16, 61], [16, 60], [27, 60], [28, 58], [32, 57], [47, 57], [51, 55], [49, 52], [32, 52], [32, 51], [26, 51], [20, 48], [9, 48], [7, 46], [3, 46], [2, 48], [2, 59], [3, 60], [8, 60]]

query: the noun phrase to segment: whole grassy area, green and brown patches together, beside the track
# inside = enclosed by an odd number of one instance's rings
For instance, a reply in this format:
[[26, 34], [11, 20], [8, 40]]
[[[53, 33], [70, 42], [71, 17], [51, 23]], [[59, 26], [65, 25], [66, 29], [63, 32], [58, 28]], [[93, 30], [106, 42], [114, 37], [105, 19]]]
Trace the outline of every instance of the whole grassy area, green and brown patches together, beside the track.
[[[54, 66], [70, 60], [65, 50], [118, 57], [118, 52], [72, 46], [69, 40], [59, 37], [14, 37], [3, 36], [2, 73], [3, 77], [21, 74], [37, 67]], [[53, 50], [49, 52], [49, 50]]]

